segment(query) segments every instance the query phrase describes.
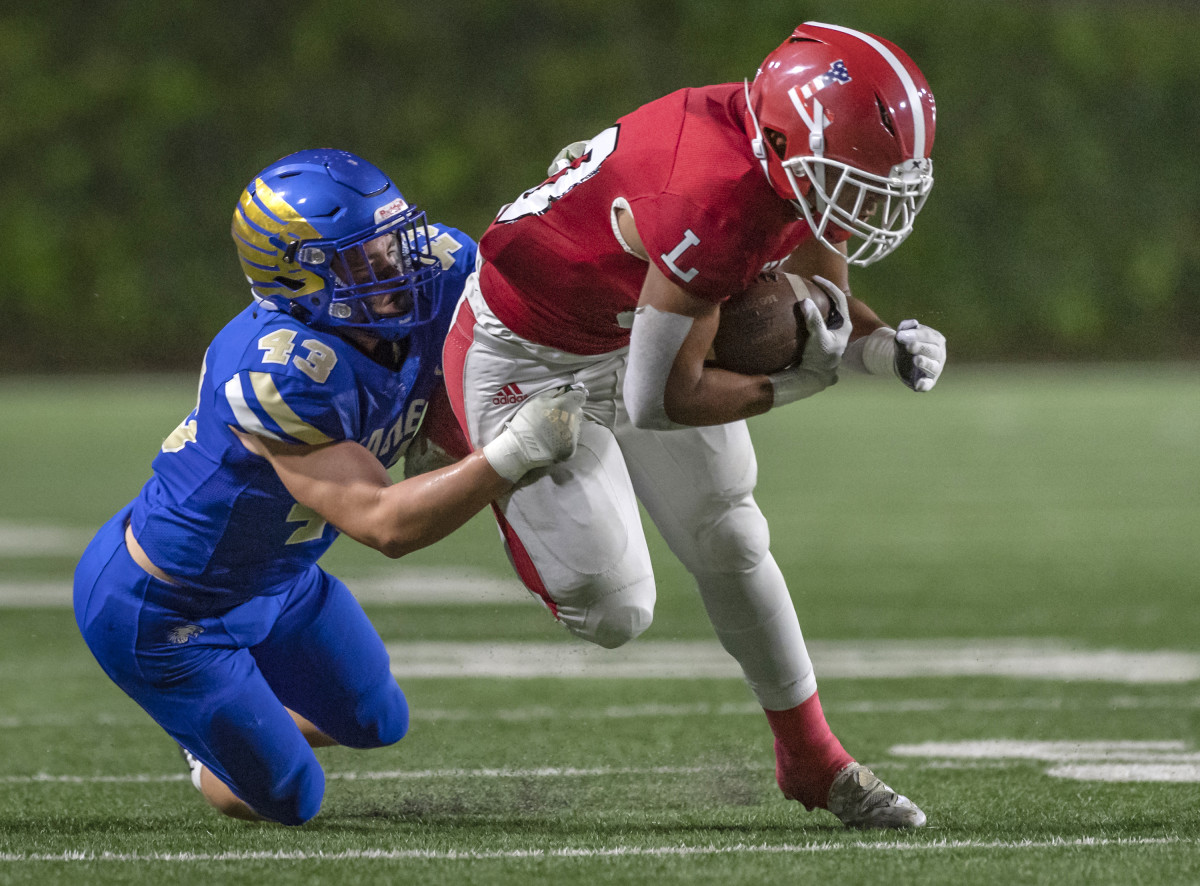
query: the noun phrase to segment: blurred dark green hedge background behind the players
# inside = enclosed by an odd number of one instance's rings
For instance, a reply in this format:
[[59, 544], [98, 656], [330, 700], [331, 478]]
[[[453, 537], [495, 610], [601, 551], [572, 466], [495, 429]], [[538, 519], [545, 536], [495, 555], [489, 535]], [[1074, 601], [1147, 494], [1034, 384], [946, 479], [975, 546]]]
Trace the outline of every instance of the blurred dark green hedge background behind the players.
[[284, 154], [360, 154], [479, 237], [563, 144], [752, 77], [806, 19], [896, 42], [937, 98], [934, 194], [857, 295], [955, 361], [1200, 354], [1194, 2], [26, 6], [0, 12], [4, 373], [196, 370], [250, 298], [234, 204]]

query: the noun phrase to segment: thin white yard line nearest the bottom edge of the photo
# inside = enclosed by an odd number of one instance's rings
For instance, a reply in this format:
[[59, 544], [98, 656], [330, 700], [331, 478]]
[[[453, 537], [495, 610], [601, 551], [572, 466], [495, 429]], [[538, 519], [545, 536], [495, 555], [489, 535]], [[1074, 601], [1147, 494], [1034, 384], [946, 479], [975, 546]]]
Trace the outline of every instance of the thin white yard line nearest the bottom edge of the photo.
[[1133, 839], [1078, 837], [1048, 840], [911, 840], [838, 843], [782, 843], [670, 846], [587, 846], [562, 849], [439, 850], [439, 849], [354, 849], [340, 852], [276, 850], [234, 852], [0, 852], [0, 862], [227, 862], [227, 861], [509, 861], [516, 858], [637, 858], [690, 857], [715, 855], [810, 855], [816, 852], [948, 852], [948, 851], [1040, 851], [1045, 849], [1106, 849], [1195, 845], [1183, 837], [1142, 837]]

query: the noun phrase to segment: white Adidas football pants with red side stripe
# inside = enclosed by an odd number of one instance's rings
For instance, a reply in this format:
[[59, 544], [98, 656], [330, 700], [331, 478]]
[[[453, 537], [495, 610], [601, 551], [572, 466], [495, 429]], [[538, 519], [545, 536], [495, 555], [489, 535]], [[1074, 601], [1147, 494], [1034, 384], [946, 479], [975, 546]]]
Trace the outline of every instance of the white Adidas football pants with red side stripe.
[[[472, 327], [472, 315], [474, 324]], [[455, 335], [469, 335], [458, 339]], [[757, 462], [744, 421], [672, 431], [637, 429], [620, 397], [628, 351], [580, 357], [526, 341], [467, 286], [446, 343], [451, 400], [476, 448], [523, 397], [562, 384], [588, 389], [570, 460], [532, 472], [498, 503], [521, 579], [575, 635], [613, 648], [654, 615], [654, 574], [637, 502], [695, 576], [716, 635], [760, 704], [787, 710], [816, 678], [767, 521], [754, 501]]]

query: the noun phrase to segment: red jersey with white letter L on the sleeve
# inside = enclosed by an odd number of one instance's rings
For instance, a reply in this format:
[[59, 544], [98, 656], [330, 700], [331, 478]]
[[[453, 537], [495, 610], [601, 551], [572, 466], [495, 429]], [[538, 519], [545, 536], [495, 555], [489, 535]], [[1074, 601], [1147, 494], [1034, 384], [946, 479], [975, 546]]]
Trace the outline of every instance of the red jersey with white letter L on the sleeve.
[[618, 240], [617, 206], [632, 212], [650, 261], [702, 299], [724, 301], [786, 258], [809, 228], [767, 181], [745, 110], [740, 83], [683, 89], [592, 139], [484, 234], [488, 307], [517, 335], [560, 351], [625, 347], [646, 262]]

